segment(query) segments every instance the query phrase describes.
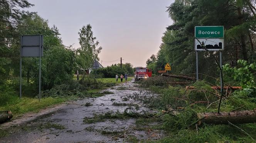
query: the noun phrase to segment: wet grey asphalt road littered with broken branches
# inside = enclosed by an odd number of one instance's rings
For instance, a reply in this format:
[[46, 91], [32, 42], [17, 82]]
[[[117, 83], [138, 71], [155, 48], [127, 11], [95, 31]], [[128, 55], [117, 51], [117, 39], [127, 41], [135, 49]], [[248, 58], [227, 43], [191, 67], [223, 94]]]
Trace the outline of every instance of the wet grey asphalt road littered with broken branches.
[[[149, 120], [148, 123], [152, 125], [156, 121], [143, 117], [145, 113], [157, 113], [143, 103], [143, 100], [150, 100], [157, 95], [136, 86], [128, 82], [104, 90], [113, 94], [70, 102], [57, 112], [23, 125], [26, 130], [1, 138], [0, 142], [108, 143], [161, 138], [163, 131], [152, 129], [144, 122]], [[112, 114], [106, 116], [106, 113]], [[133, 113], [133, 116], [129, 113]], [[137, 116], [134, 113], [138, 113]], [[84, 122], [86, 119], [92, 122]]]

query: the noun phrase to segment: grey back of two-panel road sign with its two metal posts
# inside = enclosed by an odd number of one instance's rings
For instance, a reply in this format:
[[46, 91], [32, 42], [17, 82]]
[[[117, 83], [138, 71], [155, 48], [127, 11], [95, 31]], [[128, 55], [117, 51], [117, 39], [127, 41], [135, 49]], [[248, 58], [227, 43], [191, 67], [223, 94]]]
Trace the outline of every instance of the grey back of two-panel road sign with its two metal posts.
[[43, 35], [22, 35], [20, 37], [20, 98], [22, 84], [22, 57], [39, 57], [39, 101], [41, 98], [41, 57], [43, 56]]

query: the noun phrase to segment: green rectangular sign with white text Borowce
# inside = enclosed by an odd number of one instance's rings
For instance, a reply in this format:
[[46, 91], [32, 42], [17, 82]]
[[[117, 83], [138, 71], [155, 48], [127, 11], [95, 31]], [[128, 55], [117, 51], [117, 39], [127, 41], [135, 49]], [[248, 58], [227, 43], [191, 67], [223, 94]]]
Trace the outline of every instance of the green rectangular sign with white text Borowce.
[[195, 26], [195, 38], [224, 38], [224, 26]]

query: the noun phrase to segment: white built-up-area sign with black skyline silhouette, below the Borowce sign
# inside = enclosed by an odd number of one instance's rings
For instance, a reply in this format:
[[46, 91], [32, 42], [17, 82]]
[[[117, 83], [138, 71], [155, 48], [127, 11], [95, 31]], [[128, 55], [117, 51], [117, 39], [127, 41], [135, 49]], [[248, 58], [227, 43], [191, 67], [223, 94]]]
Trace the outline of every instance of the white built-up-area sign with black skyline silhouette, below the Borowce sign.
[[195, 51], [223, 51], [224, 50], [224, 39], [211, 38], [211, 39], [195, 39]]

